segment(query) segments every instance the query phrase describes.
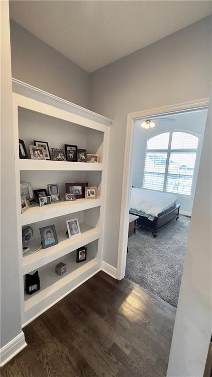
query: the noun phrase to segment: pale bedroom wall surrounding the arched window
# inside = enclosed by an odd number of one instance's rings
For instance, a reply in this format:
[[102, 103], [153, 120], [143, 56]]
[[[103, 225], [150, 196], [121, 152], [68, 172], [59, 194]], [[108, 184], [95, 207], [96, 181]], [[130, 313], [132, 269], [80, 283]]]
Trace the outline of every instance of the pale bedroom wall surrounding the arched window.
[[132, 154], [132, 185], [138, 188], [142, 188], [146, 143], [149, 138], [154, 137], [160, 132], [166, 132], [176, 129], [179, 131], [181, 130], [187, 131], [188, 133], [191, 132], [198, 134], [197, 136], [199, 136], [199, 146], [196, 156], [196, 167], [193, 175], [193, 187], [191, 196], [187, 197], [186, 195], [180, 195], [176, 193], [174, 194], [178, 198], [178, 203], [181, 204], [180, 213], [188, 216], [190, 216], [192, 212], [207, 113], [207, 110], [201, 110], [169, 116], [171, 118], [174, 118], [175, 122], [167, 122], [162, 120], [156, 121], [156, 126], [148, 131], [140, 126], [140, 121], [136, 121], [135, 123], [134, 145]]

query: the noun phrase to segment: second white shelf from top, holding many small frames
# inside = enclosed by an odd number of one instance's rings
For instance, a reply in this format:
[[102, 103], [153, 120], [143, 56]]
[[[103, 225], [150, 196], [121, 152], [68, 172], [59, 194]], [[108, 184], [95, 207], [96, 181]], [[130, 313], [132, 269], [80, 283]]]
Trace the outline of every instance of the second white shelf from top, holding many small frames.
[[20, 221], [21, 225], [27, 225], [89, 208], [99, 207], [101, 204], [101, 199], [77, 199], [73, 202], [58, 202], [44, 207], [30, 206], [26, 212], [20, 215]]

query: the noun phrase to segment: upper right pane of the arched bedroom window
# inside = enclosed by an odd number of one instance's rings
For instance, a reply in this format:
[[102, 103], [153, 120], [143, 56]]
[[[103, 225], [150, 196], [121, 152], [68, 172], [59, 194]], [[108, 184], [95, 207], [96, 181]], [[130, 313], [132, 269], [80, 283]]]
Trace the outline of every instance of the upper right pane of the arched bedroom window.
[[185, 132], [173, 132], [171, 149], [196, 149], [198, 138]]

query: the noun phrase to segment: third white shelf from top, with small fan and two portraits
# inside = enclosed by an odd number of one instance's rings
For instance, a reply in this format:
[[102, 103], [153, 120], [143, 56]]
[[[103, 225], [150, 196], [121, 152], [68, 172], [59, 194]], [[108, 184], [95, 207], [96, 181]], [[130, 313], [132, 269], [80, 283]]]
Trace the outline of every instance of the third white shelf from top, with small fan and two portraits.
[[[35, 254], [29, 254], [23, 257], [23, 275], [44, 266], [51, 261], [54, 261], [64, 255], [73, 252], [81, 246], [85, 246], [88, 243], [95, 241], [100, 236], [98, 228], [92, 228], [87, 224], [79, 224], [81, 234], [68, 238], [66, 230], [57, 232], [58, 244], [47, 249], [41, 249]], [[35, 251], [39, 248], [41, 239], [37, 238], [32, 240], [33, 246], [29, 245], [31, 251]]]

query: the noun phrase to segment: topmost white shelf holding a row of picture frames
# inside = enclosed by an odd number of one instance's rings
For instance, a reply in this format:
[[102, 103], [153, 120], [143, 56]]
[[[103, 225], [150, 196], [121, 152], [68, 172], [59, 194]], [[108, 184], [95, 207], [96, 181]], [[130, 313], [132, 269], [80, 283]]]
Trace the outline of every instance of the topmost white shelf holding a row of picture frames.
[[103, 164], [89, 162], [48, 161], [48, 160], [18, 160], [19, 170], [46, 171], [102, 171]]

